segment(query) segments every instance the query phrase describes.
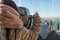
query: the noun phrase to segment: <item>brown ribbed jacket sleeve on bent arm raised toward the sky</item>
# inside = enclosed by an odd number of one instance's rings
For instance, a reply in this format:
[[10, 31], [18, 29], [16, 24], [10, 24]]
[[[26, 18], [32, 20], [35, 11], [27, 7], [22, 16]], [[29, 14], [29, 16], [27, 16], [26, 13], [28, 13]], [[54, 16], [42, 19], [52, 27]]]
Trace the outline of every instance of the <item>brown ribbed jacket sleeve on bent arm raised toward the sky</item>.
[[16, 32], [16, 40], [37, 40], [40, 31], [41, 18], [38, 14], [33, 16], [33, 28], [22, 27]]

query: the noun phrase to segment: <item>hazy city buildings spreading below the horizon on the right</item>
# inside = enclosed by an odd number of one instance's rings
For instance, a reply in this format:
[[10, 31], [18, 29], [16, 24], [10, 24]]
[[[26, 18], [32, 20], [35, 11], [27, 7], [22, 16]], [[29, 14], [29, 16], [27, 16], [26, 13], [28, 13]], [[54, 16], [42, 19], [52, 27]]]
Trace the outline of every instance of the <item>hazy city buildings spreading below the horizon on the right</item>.
[[[46, 39], [53, 31], [60, 35], [60, 19], [59, 18], [41, 18], [40, 36]], [[51, 36], [51, 35], [50, 35]]]

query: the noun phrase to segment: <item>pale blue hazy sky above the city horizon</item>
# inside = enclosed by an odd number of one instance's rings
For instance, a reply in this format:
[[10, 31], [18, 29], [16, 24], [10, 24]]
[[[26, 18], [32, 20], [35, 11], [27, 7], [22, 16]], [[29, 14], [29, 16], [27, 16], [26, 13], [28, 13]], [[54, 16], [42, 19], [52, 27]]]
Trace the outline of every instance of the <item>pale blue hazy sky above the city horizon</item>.
[[41, 17], [60, 17], [60, 0], [14, 0], [18, 6], [26, 7], [30, 14], [39, 12]]

